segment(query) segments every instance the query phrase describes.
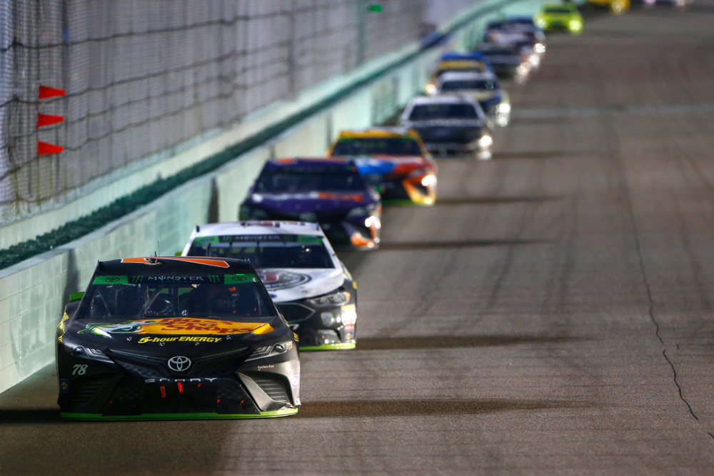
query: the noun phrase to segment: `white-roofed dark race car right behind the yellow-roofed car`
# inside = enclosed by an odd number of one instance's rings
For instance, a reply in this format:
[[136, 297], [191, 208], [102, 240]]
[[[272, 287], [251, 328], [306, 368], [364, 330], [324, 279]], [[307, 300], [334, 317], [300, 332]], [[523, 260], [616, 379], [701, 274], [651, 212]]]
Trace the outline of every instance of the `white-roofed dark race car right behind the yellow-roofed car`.
[[401, 126], [416, 129], [428, 151], [476, 153], [482, 160], [491, 158], [488, 122], [478, 101], [466, 94], [413, 98], [400, 118]]

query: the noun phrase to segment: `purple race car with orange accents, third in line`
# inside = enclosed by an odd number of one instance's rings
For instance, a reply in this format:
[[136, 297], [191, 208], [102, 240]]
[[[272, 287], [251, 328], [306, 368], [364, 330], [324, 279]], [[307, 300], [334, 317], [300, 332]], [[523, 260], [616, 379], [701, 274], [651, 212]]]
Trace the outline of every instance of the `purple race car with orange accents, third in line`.
[[266, 162], [238, 219], [320, 223], [333, 247], [378, 248], [382, 203], [345, 158], [281, 158]]

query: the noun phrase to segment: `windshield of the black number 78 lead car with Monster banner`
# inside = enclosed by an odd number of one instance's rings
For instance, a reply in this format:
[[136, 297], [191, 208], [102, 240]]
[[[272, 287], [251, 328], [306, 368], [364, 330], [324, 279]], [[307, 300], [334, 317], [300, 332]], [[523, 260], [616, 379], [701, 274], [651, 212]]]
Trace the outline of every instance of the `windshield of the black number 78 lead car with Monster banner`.
[[161, 316], [240, 321], [275, 315], [270, 302], [255, 275], [96, 276], [77, 318]]

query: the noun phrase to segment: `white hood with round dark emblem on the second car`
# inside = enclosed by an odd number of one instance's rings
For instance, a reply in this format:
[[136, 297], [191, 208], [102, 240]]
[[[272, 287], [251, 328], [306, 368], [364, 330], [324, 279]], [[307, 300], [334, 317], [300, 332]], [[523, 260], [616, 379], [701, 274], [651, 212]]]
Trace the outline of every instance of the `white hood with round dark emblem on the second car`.
[[258, 275], [276, 303], [314, 298], [339, 288], [345, 273], [338, 268], [263, 268]]

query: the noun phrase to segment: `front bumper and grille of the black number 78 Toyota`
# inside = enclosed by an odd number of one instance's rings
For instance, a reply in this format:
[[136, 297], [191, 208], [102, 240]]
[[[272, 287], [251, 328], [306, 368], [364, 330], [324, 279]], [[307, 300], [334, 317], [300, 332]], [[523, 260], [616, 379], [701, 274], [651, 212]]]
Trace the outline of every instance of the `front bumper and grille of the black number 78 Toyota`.
[[[123, 355], [122, 355], [123, 354]], [[144, 355], [110, 353], [114, 363], [58, 352], [61, 417], [74, 420], [268, 418], [300, 406], [296, 345], [286, 353], [243, 362], [223, 360], [182, 374]], [[79, 375], [77, 366], [82, 368]]]

